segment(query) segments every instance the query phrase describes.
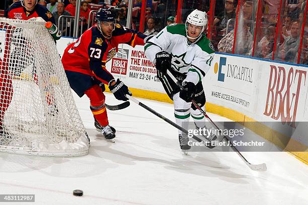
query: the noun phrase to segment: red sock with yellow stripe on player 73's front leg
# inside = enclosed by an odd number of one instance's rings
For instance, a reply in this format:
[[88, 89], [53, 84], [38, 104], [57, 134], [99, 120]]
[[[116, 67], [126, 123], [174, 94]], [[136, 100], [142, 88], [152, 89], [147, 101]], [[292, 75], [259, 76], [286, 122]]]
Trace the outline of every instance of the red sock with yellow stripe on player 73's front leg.
[[105, 95], [102, 88], [98, 85], [93, 85], [85, 91], [85, 94], [90, 98], [90, 109], [94, 118], [101, 126], [108, 125], [109, 122], [105, 107]]

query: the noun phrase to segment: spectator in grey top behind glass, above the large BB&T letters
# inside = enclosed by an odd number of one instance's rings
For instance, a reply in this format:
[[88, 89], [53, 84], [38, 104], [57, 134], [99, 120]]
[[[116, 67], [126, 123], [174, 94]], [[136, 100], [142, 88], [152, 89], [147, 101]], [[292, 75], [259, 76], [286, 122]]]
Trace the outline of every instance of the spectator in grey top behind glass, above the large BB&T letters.
[[278, 58], [287, 62], [296, 62], [299, 48], [300, 22], [298, 20], [291, 23], [291, 35], [286, 37], [280, 46]]

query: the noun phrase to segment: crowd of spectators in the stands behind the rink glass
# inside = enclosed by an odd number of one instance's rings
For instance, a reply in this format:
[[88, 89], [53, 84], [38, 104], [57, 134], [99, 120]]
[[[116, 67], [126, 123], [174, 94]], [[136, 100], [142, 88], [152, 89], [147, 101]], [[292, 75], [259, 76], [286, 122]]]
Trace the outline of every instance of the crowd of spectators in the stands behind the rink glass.
[[[9, 6], [18, 0], [5, 1]], [[64, 35], [71, 36], [72, 29], [69, 28], [72, 28], [73, 18], [70, 21], [65, 21], [64, 18], [62, 21], [58, 20], [60, 16], [75, 16], [76, 0], [38, 1], [38, 4], [45, 6], [53, 14]], [[132, 29], [139, 30], [141, 26], [139, 25], [141, 2], [141, 0], [133, 1]], [[238, 5], [238, 0], [216, 0], [213, 22], [205, 30], [205, 34], [210, 31], [210, 40], [218, 52], [266, 59], [272, 59], [274, 56], [275, 60], [296, 63], [306, 1], [286, 0], [284, 13], [280, 14], [281, 19], [278, 22], [279, 2], [277, 0], [262, 0], [262, 15], [258, 16], [258, 0], [241, 0], [241, 5]], [[176, 0], [147, 0], [144, 34], [157, 34], [165, 26], [175, 23], [177, 20], [177, 6], [178, 1]], [[119, 8], [117, 21], [121, 25], [126, 25], [128, 0], [85, 0], [81, 3], [79, 25], [82, 25], [83, 29], [80, 30], [80, 34], [94, 23], [94, 15], [90, 15], [91, 10], [105, 7]], [[183, 1], [183, 8], [185, 9], [182, 9], [180, 19], [182, 23], [185, 23], [187, 15], [194, 9], [205, 11], [210, 15], [210, 0]], [[237, 14], [239, 17], [236, 29]], [[92, 20], [90, 25], [88, 25], [89, 18]], [[259, 22], [259, 26], [255, 29], [257, 22]], [[66, 31], [67, 29], [69, 29], [69, 32]], [[306, 29], [302, 40], [301, 64], [308, 63], [308, 28]], [[276, 45], [275, 39], [277, 39]], [[276, 52], [273, 54], [274, 47]]]

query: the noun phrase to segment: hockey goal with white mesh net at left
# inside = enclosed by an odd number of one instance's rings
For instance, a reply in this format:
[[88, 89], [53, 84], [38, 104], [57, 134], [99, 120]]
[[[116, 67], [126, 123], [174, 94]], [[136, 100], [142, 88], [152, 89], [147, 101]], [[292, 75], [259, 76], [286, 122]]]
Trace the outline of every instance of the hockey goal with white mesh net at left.
[[0, 151], [81, 156], [89, 138], [41, 18], [0, 18]]

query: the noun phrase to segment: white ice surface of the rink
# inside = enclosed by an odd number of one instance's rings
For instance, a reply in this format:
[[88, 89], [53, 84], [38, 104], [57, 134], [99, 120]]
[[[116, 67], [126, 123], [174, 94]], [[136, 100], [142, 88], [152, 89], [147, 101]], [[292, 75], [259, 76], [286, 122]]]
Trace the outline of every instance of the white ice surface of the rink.
[[[35, 194], [35, 202], [1, 204], [308, 204], [308, 166], [285, 152], [244, 153], [267, 171], [252, 171], [234, 152], [184, 155], [175, 128], [131, 102], [108, 111], [116, 143], [95, 130], [89, 100], [74, 94], [91, 139], [83, 157], [0, 152], [0, 194]], [[138, 98], [175, 121], [173, 105]], [[109, 105], [119, 104], [106, 93]], [[214, 121], [227, 121], [209, 114]], [[83, 196], [74, 196], [82, 189]]]

